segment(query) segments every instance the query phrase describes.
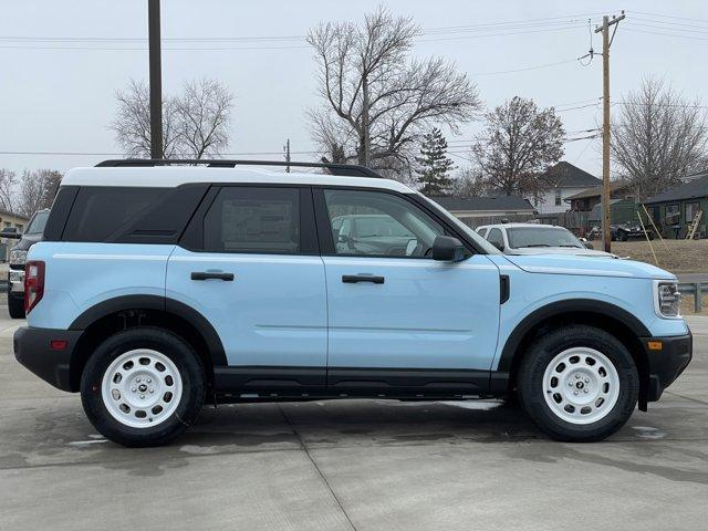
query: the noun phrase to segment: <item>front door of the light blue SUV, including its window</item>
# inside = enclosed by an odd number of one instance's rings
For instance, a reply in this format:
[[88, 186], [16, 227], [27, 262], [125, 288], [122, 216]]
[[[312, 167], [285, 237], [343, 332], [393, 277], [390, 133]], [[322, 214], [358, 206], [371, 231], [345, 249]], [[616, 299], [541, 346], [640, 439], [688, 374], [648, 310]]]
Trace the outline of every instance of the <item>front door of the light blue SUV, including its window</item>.
[[[347, 393], [485, 385], [499, 327], [497, 267], [476, 253], [433, 260], [436, 236], [450, 231], [402, 195], [332, 188], [316, 198], [319, 223], [330, 223], [320, 233], [333, 239], [321, 240], [327, 384]], [[337, 232], [347, 221], [366, 230]]]

